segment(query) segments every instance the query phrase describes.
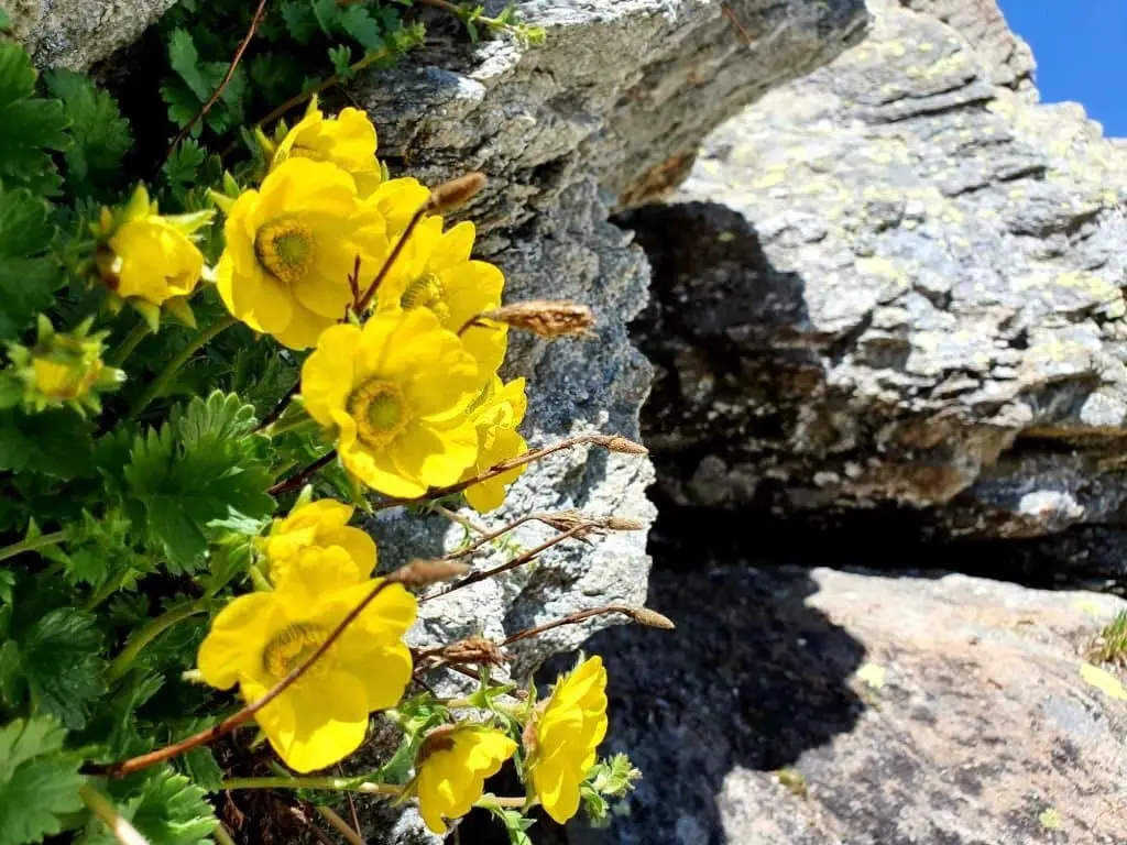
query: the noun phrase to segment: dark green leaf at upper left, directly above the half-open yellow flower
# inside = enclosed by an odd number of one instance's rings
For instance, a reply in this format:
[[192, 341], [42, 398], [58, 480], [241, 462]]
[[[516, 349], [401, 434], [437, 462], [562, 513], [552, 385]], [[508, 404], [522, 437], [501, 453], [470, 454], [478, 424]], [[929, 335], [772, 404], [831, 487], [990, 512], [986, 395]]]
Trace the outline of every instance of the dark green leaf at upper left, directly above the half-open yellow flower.
[[68, 190], [90, 196], [121, 183], [122, 159], [133, 144], [133, 134], [117, 101], [73, 71], [51, 71], [46, 83], [47, 90], [62, 100], [71, 121], [74, 143], [65, 155]]

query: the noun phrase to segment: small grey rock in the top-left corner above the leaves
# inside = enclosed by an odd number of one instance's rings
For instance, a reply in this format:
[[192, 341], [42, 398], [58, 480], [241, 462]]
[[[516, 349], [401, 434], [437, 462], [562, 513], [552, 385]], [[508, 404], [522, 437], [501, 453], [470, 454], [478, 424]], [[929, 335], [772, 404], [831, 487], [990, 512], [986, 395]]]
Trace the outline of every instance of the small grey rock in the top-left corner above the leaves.
[[38, 68], [85, 70], [134, 41], [176, 0], [10, 0], [12, 35]]

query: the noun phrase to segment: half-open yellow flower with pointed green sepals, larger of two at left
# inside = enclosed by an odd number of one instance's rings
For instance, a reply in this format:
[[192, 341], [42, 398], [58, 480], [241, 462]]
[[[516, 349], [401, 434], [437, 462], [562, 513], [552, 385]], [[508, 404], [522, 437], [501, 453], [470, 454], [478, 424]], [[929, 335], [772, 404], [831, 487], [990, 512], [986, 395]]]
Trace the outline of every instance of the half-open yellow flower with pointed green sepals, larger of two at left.
[[114, 221], [108, 208], [103, 211], [101, 228], [112, 232], [98, 257], [106, 286], [122, 299], [152, 305], [187, 296], [204, 269], [192, 237], [210, 219], [210, 212], [161, 216], [144, 186], [139, 186], [119, 220]]

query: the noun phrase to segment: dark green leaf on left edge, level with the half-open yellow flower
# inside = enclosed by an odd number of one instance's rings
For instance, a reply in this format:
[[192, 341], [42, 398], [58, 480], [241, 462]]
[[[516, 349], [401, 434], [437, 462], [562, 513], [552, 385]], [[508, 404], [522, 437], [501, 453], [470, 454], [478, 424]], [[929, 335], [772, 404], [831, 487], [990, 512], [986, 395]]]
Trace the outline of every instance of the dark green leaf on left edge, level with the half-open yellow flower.
[[47, 204], [28, 190], [0, 187], [0, 340], [23, 331], [63, 283], [62, 269], [50, 256], [55, 228], [47, 213]]

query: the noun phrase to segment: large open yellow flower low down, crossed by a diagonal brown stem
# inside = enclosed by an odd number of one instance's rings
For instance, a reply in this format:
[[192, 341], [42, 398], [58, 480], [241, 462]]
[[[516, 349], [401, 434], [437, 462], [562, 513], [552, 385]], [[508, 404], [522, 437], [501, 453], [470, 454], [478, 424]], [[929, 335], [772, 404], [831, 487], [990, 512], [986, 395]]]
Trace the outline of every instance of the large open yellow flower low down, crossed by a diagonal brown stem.
[[[277, 589], [239, 596], [212, 621], [199, 646], [208, 684], [236, 684], [254, 702], [300, 666], [372, 590], [339, 546], [307, 549]], [[402, 696], [411, 676], [401, 638], [415, 621], [415, 597], [391, 585], [331, 648], [255, 719], [274, 750], [298, 772], [332, 765], [360, 747], [369, 714]]]

